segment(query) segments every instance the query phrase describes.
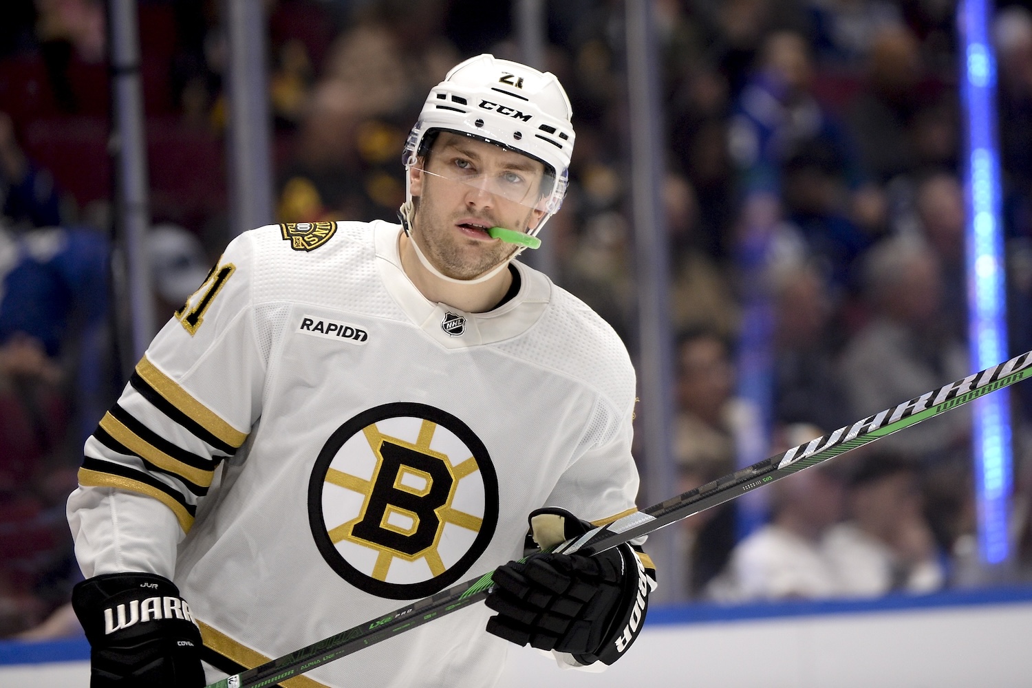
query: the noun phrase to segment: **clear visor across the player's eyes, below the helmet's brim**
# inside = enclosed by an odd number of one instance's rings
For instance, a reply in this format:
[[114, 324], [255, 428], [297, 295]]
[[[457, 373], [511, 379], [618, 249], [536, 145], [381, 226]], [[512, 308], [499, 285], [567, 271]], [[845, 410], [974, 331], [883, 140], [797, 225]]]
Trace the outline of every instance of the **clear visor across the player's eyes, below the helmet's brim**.
[[481, 202], [522, 206], [526, 210], [551, 211], [549, 203], [555, 177], [540, 170], [504, 169], [484, 173], [449, 162], [444, 170], [422, 173], [457, 193], [485, 196]]

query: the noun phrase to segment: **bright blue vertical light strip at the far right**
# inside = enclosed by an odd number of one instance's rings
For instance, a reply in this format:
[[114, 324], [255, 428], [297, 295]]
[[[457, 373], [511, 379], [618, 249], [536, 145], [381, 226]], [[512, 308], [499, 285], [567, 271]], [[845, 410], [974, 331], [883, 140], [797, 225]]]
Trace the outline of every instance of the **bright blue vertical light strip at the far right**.
[[[968, 339], [971, 369], [1006, 360], [1003, 224], [1000, 217], [1000, 159], [996, 137], [996, 57], [990, 39], [992, 0], [964, 0], [957, 23], [964, 40], [961, 92], [967, 140]], [[1007, 390], [975, 402], [975, 490], [978, 549], [982, 561], [1009, 556], [1007, 516], [1012, 482], [1010, 412]]]

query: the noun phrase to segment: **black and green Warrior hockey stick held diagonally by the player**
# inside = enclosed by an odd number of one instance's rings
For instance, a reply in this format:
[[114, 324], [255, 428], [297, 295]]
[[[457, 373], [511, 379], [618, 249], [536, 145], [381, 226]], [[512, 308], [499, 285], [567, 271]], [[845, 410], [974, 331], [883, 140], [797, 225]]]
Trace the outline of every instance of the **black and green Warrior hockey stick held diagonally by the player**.
[[[635, 512], [613, 523], [594, 528], [576, 540], [562, 543], [553, 551], [590, 555], [608, 550], [1029, 376], [1032, 376], [1032, 352], [922, 394], [805, 445], [793, 447], [783, 454], [772, 456], [684, 494]], [[206, 688], [261, 688], [299, 676], [316, 666], [340, 659], [366, 646], [375, 645], [484, 599], [491, 586], [492, 574], [493, 571], [454, 585], [379, 619], [349, 628], [279, 659], [213, 683]]]

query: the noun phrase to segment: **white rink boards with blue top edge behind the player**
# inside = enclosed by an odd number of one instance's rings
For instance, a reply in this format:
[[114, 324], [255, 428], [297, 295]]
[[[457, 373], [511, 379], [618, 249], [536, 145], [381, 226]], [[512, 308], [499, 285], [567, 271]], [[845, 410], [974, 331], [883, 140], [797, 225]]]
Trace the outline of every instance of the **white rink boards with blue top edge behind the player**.
[[[1032, 588], [791, 602], [656, 608], [603, 674], [510, 653], [499, 688], [970, 688], [1029, 685]], [[0, 686], [88, 688], [85, 641], [0, 642]]]

